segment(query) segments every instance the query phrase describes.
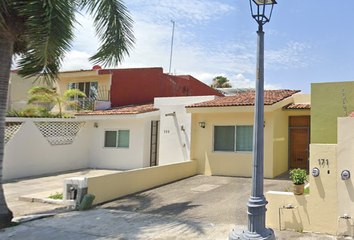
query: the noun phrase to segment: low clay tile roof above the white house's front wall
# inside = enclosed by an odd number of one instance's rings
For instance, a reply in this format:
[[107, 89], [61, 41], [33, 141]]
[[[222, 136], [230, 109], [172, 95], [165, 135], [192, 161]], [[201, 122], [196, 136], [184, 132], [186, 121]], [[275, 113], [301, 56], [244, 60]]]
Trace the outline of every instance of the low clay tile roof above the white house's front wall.
[[97, 110], [86, 113], [78, 113], [76, 116], [97, 116], [97, 115], [134, 115], [140, 113], [154, 112], [159, 109], [154, 108], [154, 104], [144, 104], [144, 105], [130, 105], [123, 106], [119, 108], [107, 109], [107, 110]]

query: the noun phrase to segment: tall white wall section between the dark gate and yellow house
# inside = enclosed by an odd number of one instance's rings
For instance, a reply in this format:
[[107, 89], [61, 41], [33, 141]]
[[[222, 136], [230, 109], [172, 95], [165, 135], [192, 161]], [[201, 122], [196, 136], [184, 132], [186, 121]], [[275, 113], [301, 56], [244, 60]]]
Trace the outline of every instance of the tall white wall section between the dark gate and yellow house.
[[[160, 109], [159, 163], [165, 165], [190, 159], [191, 114], [186, 106], [213, 100], [217, 96], [155, 98], [154, 106]], [[175, 116], [165, 114], [175, 112]], [[184, 126], [185, 131], [181, 130]]]

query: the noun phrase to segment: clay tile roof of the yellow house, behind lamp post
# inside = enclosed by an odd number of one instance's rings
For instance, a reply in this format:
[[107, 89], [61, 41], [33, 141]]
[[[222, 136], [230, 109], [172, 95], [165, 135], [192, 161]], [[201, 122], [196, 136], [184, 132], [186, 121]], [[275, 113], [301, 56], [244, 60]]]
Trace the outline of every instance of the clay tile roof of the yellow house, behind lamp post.
[[[300, 90], [266, 90], [264, 91], [264, 105], [273, 105]], [[253, 106], [255, 91], [240, 93], [233, 96], [222, 97], [207, 102], [196, 103], [187, 106], [193, 107], [228, 107], [228, 106]]]

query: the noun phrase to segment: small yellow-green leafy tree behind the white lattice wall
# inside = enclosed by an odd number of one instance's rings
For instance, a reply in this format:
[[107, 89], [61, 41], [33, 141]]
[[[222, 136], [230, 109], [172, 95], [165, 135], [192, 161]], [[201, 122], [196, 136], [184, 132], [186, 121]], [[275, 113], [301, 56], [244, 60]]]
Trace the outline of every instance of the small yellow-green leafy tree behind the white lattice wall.
[[53, 105], [58, 105], [59, 117], [62, 117], [62, 109], [64, 106], [71, 106], [76, 111], [81, 109], [80, 103], [73, 99], [75, 96], [86, 97], [86, 94], [81, 92], [79, 89], [69, 89], [66, 90], [63, 96], [59, 96], [57, 92], [50, 88], [36, 86], [29, 90], [31, 94], [30, 99], [28, 99], [28, 104], [40, 102], [40, 103], [51, 103]]

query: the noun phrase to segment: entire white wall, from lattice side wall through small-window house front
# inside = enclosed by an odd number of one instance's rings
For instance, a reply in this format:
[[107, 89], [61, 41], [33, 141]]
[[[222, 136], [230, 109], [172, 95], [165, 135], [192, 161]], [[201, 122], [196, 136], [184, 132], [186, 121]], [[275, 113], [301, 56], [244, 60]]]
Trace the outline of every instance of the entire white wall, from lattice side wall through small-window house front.
[[[151, 121], [159, 119], [158, 112], [89, 119], [7, 118], [8, 122], [24, 123], [5, 145], [3, 180], [82, 168], [125, 170], [150, 166]], [[36, 121], [85, 124], [71, 145], [52, 146], [34, 125]], [[129, 149], [104, 148], [105, 130], [130, 130]]]

